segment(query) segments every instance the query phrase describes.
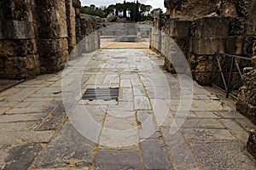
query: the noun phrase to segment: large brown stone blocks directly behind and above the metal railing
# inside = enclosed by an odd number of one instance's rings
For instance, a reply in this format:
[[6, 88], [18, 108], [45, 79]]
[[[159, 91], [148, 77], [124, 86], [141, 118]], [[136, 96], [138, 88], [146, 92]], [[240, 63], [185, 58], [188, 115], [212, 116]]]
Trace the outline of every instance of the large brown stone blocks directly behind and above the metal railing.
[[[247, 56], [247, 41], [244, 40], [246, 37], [245, 22], [241, 20], [212, 16], [192, 21], [189, 65], [191, 65], [192, 75], [201, 85], [210, 83], [212, 58], [216, 52]], [[243, 65], [242, 62], [241, 65]], [[224, 74], [228, 72], [229, 70]], [[235, 72], [233, 77], [236, 79], [237, 75]], [[221, 85], [221, 81], [219, 82]]]

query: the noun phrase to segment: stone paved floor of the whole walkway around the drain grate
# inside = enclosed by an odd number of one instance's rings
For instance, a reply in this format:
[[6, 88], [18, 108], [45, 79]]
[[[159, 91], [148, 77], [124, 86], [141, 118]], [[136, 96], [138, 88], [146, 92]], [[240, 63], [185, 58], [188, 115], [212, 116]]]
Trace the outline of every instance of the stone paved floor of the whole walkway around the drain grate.
[[[256, 169], [255, 126], [235, 101], [195, 82], [180, 95], [162, 65], [149, 49], [104, 49], [3, 91], [0, 168]], [[82, 100], [87, 88], [119, 88], [119, 100]]]

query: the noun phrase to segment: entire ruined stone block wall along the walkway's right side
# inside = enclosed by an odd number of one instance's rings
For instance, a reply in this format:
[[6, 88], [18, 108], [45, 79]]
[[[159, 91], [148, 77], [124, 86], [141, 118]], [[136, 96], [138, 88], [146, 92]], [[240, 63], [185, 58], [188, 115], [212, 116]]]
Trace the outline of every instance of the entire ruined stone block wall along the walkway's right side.
[[[188, 7], [185, 4], [194, 4], [195, 1], [165, 1], [172, 3], [177, 8]], [[176, 3], [174, 3], [176, 2]], [[181, 2], [181, 3], [177, 3]], [[174, 41], [178, 48], [183, 52], [183, 55], [188, 59], [192, 75], [201, 85], [209, 85], [212, 58], [216, 52], [225, 54], [236, 54], [240, 56], [252, 56], [253, 41], [256, 39], [256, 31], [253, 32], [256, 25], [254, 7], [255, 0], [244, 0], [240, 3], [229, 0], [218, 0], [214, 4], [214, 12], [212, 15], [195, 17], [194, 9], [186, 11], [180, 10], [181, 14], [190, 14], [187, 20], [177, 18], [163, 18], [154, 20], [154, 30], [161, 31], [157, 34], [153, 31], [152, 48], [158, 49], [166, 56], [165, 67], [168, 71], [175, 72], [172, 63], [177, 62], [177, 56], [182, 54], [177, 53], [177, 48], [170, 42]], [[201, 3], [204, 3], [202, 5]], [[198, 8], [213, 8], [212, 3], [207, 4], [207, 1], [201, 1], [201, 6]], [[232, 3], [228, 6], [227, 4]], [[250, 4], [250, 5], [248, 5]], [[193, 5], [192, 5], [193, 6]], [[192, 7], [191, 6], [191, 7]], [[228, 8], [229, 7], [229, 8]], [[256, 8], [256, 7], [254, 7]], [[216, 10], [217, 9], [217, 10]], [[168, 10], [168, 8], [167, 8]], [[199, 10], [199, 9], [198, 9]], [[236, 10], [236, 11], [235, 11]], [[177, 13], [175, 9], [175, 13]], [[236, 15], [235, 15], [235, 12]], [[206, 13], [201, 13], [206, 14]], [[174, 15], [172, 15], [173, 17]], [[199, 16], [199, 17], [198, 17]], [[158, 23], [164, 23], [162, 25]], [[161, 36], [161, 38], [159, 38]], [[159, 40], [160, 39], [160, 40]], [[159, 41], [156, 41], [159, 40]], [[159, 48], [161, 42], [161, 48]], [[224, 59], [223, 59], [224, 60]], [[241, 62], [240, 65], [247, 65], [247, 62]], [[238, 74], [234, 73], [233, 77], [236, 80]], [[220, 81], [219, 81], [220, 82]]]

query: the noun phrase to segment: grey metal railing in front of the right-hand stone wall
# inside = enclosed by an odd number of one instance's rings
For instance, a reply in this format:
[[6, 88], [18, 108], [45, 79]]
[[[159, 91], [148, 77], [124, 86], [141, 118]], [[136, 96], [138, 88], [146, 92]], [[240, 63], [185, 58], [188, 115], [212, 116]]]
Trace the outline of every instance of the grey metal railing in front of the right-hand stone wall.
[[[219, 57], [224, 56], [224, 62], [222, 62]], [[228, 58], [226, 58], [228, 57]], [[221, 91], [224, 91], [226, 94], [226, 98], [232, 96], [236, 99], [236, 96], [231, 94], [234, 89], [240, 88], [243, 84], [243, 77], [240, 62], [241, 60], [251, 61], [252, 59], [247, 57], [241, 57], [232, 54], [222, 54], [222, 53], [215, 53], [212, 59], [212, 74], [211, 74], [211, 86], [218, 88]], [[248, 66], [248, 65], [247, 65]], [[235, 72], [236, 71], [236, 72]], [[234, 73], [238, 73], [239, 75], [239, 82], [233, 81]], [[218, 77], [221, 77], [221, 82], [223, 82], [223, 87], [216, 84]]]

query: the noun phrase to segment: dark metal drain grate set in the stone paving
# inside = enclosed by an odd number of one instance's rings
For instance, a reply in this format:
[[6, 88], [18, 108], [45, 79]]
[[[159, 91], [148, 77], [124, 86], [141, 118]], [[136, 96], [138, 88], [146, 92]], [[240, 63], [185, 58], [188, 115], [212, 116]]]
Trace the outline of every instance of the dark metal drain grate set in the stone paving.
[[118, 100], [119, 99], [119, 88], [88, 88], [84, 93], [82, 99], [94, 100], [102, 99], [108, 100]]

